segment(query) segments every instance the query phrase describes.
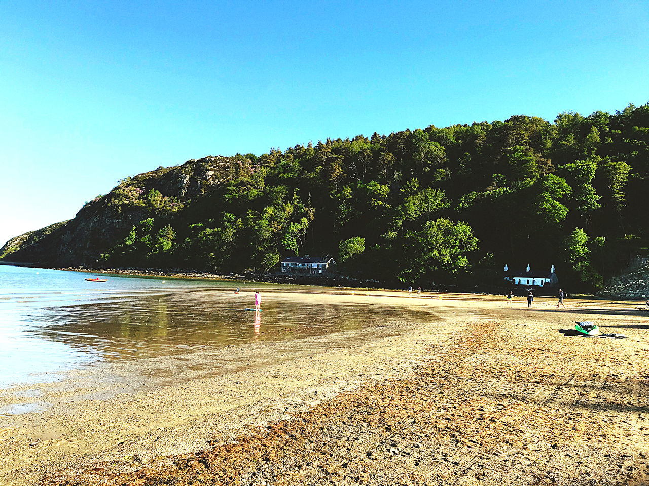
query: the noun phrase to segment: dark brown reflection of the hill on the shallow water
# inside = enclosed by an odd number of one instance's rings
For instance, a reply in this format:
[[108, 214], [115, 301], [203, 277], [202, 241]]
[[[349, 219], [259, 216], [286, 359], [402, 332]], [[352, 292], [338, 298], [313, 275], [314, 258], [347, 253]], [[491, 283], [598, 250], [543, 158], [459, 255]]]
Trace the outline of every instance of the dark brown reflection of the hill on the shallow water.
[[[244, 301], [197, 293], [49, 308], [27, 332], [71, 351], [106, 358], [166, 354], [252, 340], [306, 338], [392, 321], [430, 321], [430, 312], [371, 303], [264, 303], [263, 316]], [[263, 325], [262, 325], [263, 317]]]

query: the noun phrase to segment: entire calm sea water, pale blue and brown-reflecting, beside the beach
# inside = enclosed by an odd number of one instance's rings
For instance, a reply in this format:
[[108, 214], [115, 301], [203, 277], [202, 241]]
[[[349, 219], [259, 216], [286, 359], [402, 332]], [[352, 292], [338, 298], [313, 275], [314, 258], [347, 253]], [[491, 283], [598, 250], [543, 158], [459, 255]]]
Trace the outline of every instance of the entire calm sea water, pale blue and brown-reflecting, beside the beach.
[[[106, 283], [84, 278], [108, 279]], [[232, 290], [241, 286], [241, 293]], [[262, 313], [252, 292], [263, 295]], [[295, 291], [293, 301], [274, 292]], [[0, 388], [57, 380], [66, 370], [258, 340], [357, 329], [369, 303], [300, 299], [317, 292], [280, 284], [125, 277], [0, 265]], [[285, 295], [285, 294], [282, 294]], [[372, 318], [430, 318], [371, 307]]]

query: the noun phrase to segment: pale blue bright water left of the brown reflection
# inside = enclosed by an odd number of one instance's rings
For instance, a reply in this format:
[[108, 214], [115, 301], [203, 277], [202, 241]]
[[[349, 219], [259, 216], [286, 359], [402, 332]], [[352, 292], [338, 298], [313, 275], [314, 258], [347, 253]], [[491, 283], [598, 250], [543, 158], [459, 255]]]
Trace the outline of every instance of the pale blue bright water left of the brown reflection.
[[75, 316], [75, 309], [127, 305], [211, 284], [117, 276], [106, 283], [84, 280], [95, 276], [0, 265], [0, 388], [55, 380], [61, 371], [106, 357], [104, 337], [93, 334], [95, 319], [82, 312]]

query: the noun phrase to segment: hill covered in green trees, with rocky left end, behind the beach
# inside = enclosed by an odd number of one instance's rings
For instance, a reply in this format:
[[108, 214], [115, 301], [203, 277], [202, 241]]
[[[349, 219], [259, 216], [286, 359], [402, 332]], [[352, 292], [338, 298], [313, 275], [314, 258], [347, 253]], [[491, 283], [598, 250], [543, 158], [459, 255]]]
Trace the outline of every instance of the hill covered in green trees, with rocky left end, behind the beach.
[[587, 290], [646, 254], [648, 178], [649, 104], [428, 126], [160, 167], [5, 259], [241, 272], [329, 254], [402, 283], [554, 264]]

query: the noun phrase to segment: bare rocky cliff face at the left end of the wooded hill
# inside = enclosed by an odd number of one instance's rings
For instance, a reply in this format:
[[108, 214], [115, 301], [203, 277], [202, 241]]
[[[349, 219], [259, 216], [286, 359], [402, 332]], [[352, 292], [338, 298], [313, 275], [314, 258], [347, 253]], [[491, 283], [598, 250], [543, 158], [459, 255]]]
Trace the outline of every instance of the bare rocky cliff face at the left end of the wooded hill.
[[106, 196], [86, 203], [75, 218], [12, 238], [4, 260], [52, 266], [93, 265], [99, 255], [154, 211], [178, 212], [215, 186], [258, 166], [230, 157], [204, 157], [177, 167], [158, 167], [121, 181]]

